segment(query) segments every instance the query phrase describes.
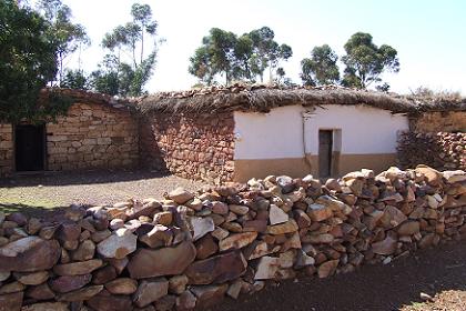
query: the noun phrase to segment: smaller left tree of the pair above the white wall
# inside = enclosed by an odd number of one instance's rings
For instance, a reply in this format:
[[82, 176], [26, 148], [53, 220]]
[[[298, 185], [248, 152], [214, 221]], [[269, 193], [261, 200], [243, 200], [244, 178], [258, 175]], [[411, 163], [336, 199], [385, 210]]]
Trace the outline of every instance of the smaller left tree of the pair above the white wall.
[[315, 47], [311, 58], [301, 61], [301, 79], [306, 86], [325, 86], [338, 83], [340, 70], [337, 54], [328, 44]]

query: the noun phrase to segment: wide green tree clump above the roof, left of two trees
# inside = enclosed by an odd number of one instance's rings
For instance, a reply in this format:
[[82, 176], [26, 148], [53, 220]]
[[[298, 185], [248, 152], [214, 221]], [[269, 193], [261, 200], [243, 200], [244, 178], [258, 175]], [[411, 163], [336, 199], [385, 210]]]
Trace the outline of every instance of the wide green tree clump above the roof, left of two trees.
[[[202, 46], [190, 58], [188, 70], [197, 77], [200, 82], [212, 84], [217, 76], [224, 76], [225, 83], [230, 84], [233, 80], [255, 82], [257, 77], [263, 81], [264, 72], [269, 68], [272, 81], [280, 61], [287, 60], [293, 54], [290, 46], [278, 44], [274, 37], [269, 27], [241, 37], [231, 31], [212, 28], [209, 36], [202, 39]], [[284, 73], [283, 68], [280, 73]]]

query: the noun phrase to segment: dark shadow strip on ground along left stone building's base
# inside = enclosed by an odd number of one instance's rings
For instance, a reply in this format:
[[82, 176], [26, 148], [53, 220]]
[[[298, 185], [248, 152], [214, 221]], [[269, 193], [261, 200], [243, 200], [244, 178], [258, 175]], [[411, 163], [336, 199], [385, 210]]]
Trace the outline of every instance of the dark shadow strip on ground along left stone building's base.
[[123, 181], [138, 181], [143, 179], [166, 177], [166, 173], [149, 170], [136, 171], [77, 171], [77, 172], [38, 172], [18, 174], [12, 178], [0, 179], [0, 187], [37, 187], [42, 185], [70, 185], [70, 184], [97, 184]]

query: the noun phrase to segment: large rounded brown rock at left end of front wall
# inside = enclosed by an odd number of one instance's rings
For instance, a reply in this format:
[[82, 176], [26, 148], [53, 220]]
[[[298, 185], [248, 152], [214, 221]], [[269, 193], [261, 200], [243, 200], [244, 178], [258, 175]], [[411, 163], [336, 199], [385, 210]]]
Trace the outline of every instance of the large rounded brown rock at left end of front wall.
[[60, 258], [54, 240], [28, 237], [0, 248], [0, 272], [34, 272], [51, 269]]

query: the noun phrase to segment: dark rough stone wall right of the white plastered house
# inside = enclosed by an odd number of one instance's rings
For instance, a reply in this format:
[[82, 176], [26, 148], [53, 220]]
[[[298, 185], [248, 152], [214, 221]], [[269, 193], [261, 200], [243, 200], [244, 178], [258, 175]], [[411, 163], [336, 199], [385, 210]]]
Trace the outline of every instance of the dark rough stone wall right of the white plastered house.
[[466, 133], [405, 132], [397, 152], [402, 168], [427, 164], [438, 170], [466, 170]]

